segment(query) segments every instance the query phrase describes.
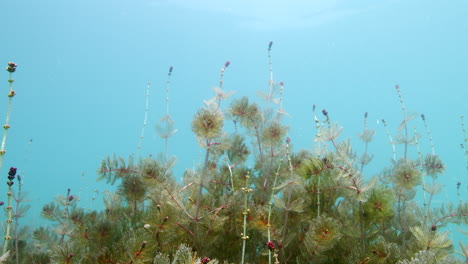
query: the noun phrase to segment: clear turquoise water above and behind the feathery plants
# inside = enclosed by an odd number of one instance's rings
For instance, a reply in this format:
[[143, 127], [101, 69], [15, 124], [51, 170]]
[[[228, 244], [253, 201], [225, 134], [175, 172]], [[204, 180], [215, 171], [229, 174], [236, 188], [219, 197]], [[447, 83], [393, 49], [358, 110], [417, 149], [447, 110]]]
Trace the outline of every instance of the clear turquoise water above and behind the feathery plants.
[[[181, 177], [203, 159], [190, 121], [214, 96], [221, 67], [231, 62], [225, 90], [254, 98], [268, 90], [273, 41], [274, 80], [285, 83], [283, 108], [291, 115], [285, 123], [295, 149], [312, 148], [316, 104], [362, 151], [357, 134], [368, 112], [377, 135], [366, 173], [379, 172], [392, 158], [379, 120], [397, 133], [399, 84], [408, 112], [425, 114], [447, 165], [434, 203], [456, 202], [456, 183], [464, 197], [468, 186], [460, 148], [460, 116], [468, 113], [466, 10], [466, 1], [3, 1], [0, 62], [13, 61], [18, 70], [1, 175], [15, 166], [23, 176], [32, 205], [24, 223], [42, 223], [42, 204], [68, 188], [84, 207], [98, 208], [111, 187], [96, 182], [96, 170], [107, 155], [137, 151], [148, 82], [140, 154], [164, 151], [154, 126], [165, 114], [173, 66], [170, 111], [178, 132], [169, 152]], [[7, 72], [0, 76], [7, 91]], [[7, 98], [0, 101], [0, 117], [6, 104]], [[424, 126], [419, 119], [414, 124], [429, 152]]]

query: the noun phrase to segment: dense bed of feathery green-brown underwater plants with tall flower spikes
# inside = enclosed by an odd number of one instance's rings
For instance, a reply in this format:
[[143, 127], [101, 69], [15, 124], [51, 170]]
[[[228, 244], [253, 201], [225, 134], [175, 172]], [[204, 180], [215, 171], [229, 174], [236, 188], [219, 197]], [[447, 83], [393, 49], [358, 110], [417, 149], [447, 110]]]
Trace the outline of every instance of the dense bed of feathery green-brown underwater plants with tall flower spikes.
[[[366, 175], [375, 131], [359, 134], [363, 153], [340, 138], [343, 127], [332, 114], [313, 106], [316, 134], [313, 149], [301, 149], [288, 137], [283, 118], [283, 82], [270, 80], [261, 99], [239, 97], [223, 90], [221, 68], [215, 96], [193, 115], [191, 129], [203, 150], [198, 166], [174, 175], [176, 157], [169, 139], [177, 132], [170, 117], [171, 66], [166, 82], [166, 113], [156, 126], [164, 148], [155, 157], [109, 155], [98, 168], [98, 180], [114, 186], [104, 192], [104, 208], [78, 206], [73, 190], [45, 204], [41, 216], [48, 226], [21, 227], [21, 177], [8, 172], [4, 207], [3, 263], [27, 264], [162, 264], [162, 263], [468, 263], [468, 245], [453, 245], [446, 226], [468, 223], [468, 202], [432, 204], [445, 171], [432, 143], [426, 117], [421, 115], [432, 152], [422, 153], [421, 136], [410, 126], [416, 116], [403, 112], [398, 135], [381, 120], [393, 149], [388, 167]], [[12, 68], [14, 66], [14, 68]], [[9, 63], [11, 74], [16, 64]], [[140, 140], [147, 125], [148, 94]], [[14, 91], [8, 94], [10, 99]], [[0, 157], [5, 154], [4, 125]], [[226, 129], [227, 121], [234, 129]], [[464, 151], [468, 155], [466, 130]], [[403, 145], [401, 156], [395, 145]], [[417, 149], [410, 157], [408, 149]], [[2, 160], [0, 159], [0, 165]], [[17, 184], [13, 184], [17, 179]], [[456, 184], [456, 183], [454, 183]], [[457, 184], [458, 189], [461, 183]], [[423, 203], [415, 198], [422, 193]], [[3, 202], [2, 202], [3, 203]], [[458, 249], [455, 249], [458, 248]]]

